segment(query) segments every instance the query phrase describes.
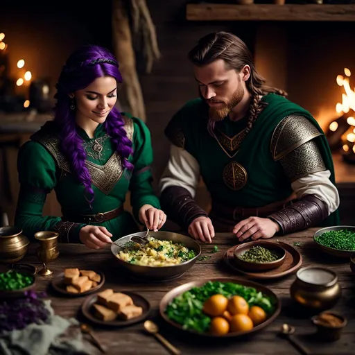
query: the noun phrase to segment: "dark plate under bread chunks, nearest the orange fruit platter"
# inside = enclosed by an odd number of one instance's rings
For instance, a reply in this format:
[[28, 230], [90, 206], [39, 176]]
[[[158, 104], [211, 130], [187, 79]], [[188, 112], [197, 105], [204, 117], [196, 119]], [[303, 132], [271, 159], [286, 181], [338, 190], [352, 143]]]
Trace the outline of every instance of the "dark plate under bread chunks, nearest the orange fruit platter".
[[[120, 292], [120, 291], [114, 291], [114, 292]], [[96, 301], [97, 301], [97, 294], [92, 295], [87, 297], [83, 305], [81, 306], [81, 311], [83, 312], [83, 315], [85, 315], [85, 318], [90, 320], [91, 322], [99, 325], [105, 325], [108, 327], [125, 327], [130, 324], [135, 324], [138, 322], [141, 322], [142, 320], [145, 320], [150, 312], [150, 303], [146, 298], [144, 298], [141, 295], [138, 295], [137, 293], [132, 293], [132, 292], [123, 292], [125, 295], [128, 295], [132, 298], [133, 303], [136, 306], [139, 306], [143, 309], [143, 313], [139, 315], [138, 317], [131, 318], [129, 320], [110, 320], [110, 321], [105, 321], [105, 320], [100, 320], [95, 317], [94, 315], [94, 307], [92, 306]]]

